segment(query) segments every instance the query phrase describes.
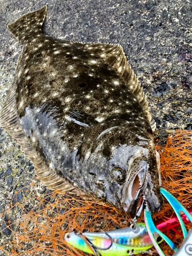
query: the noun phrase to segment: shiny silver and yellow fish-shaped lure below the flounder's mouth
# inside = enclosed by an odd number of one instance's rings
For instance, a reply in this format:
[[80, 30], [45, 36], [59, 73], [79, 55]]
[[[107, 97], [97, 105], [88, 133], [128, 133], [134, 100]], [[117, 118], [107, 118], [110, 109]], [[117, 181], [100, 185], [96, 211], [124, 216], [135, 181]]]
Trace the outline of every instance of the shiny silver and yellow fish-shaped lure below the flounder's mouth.
[[[109, 246], [111, 245], [111, 239], [109, 238], [108, 234], [113, 241], [110, 248]], [[135, 229], [126, 227], [118, 230], [108, 231], [107, 234], [103, 232], [84, 232], [83, 236], [88, 239], [93, 246], [102, 249], [109, 248], [108, 250], [99, 250], [102, 256], [135, 255], [145, 252], [153, 247], [153, 243], [147, 233], [144, 223], [138, 223]], [[67, 233], [65, 235], [65, 240], [77, 249], [94, 254], [88, 243], [86, 243], [86, 240], [83, 240], [82, 237], [75, 232]], [[155, 234], [155, 240], [158, 244], [163, 241], [158, 234]]]

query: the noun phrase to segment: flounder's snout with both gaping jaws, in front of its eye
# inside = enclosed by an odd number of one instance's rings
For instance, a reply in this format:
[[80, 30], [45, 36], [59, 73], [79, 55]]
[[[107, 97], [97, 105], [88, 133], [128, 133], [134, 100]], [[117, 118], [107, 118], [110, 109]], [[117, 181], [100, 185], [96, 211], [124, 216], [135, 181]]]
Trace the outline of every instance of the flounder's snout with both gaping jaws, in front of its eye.
[[121, 203], [128, 216], [135, 217], [145, 201], [151, 215], [158, 212], [163, 204], [160, 193], [160, 157], [152, 140], [141, 148], [134, 148], [127, 161], [127, 177], [122, 189]]

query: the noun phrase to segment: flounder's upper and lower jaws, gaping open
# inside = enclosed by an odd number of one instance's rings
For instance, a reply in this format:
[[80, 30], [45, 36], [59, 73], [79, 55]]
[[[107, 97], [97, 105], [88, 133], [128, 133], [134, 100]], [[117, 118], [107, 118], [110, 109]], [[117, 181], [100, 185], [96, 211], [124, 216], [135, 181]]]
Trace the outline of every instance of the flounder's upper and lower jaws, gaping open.
[[[158, 212], [163, 204], [163, 198], [160, 193], [161, 186], [161, 172], [160, 172], [160, 156], [156, 151], [148, 151], [148, 159], [140, 161], [139, 165], [135, 168], [138, 169], [135, 175], [130, 175], [127, 184], [123, 191], [122, 208], [127, 216], [134, 218], [136, 212], [141, 205], [142, 200], [145, 201], [151, 215]], [[133, 158], [133, 162], [137, 157]], [[152, 159], [153, 164], [149, 164], [149, 159]], [[132, 170], [133, 162], [129, 166], [130, 173]], [[155, 165], [155, 166], [154, 166]]]

